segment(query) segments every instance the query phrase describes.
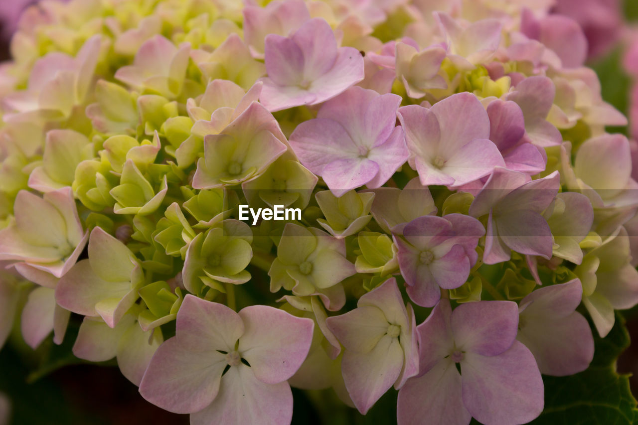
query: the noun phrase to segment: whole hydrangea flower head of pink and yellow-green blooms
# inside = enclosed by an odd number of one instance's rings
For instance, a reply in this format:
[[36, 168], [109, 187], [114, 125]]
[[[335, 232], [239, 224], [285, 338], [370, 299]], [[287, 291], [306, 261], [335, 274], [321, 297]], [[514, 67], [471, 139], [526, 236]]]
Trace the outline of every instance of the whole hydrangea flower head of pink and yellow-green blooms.
[[394, 387], [399, 424], [535, 419], [541, 374], [593, 359], [581, 312], [604, 337], [638, 304], [627, 119], [549, 3], [27, 9], [0, 345], [81, 315], [77, 357], [192, 424], [288, 423], [291, 386], [362, 414]]

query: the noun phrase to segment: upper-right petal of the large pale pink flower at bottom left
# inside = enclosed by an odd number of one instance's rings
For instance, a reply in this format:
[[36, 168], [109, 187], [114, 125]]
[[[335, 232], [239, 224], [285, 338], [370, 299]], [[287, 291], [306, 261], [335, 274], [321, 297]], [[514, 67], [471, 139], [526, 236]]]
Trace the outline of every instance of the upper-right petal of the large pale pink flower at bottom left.
[[255, 377], [265, 384], [292, 377], [308, 355], [315, 322], [269, 306], [249, 306], [239, 316], [245, 331], [237, 350]]

